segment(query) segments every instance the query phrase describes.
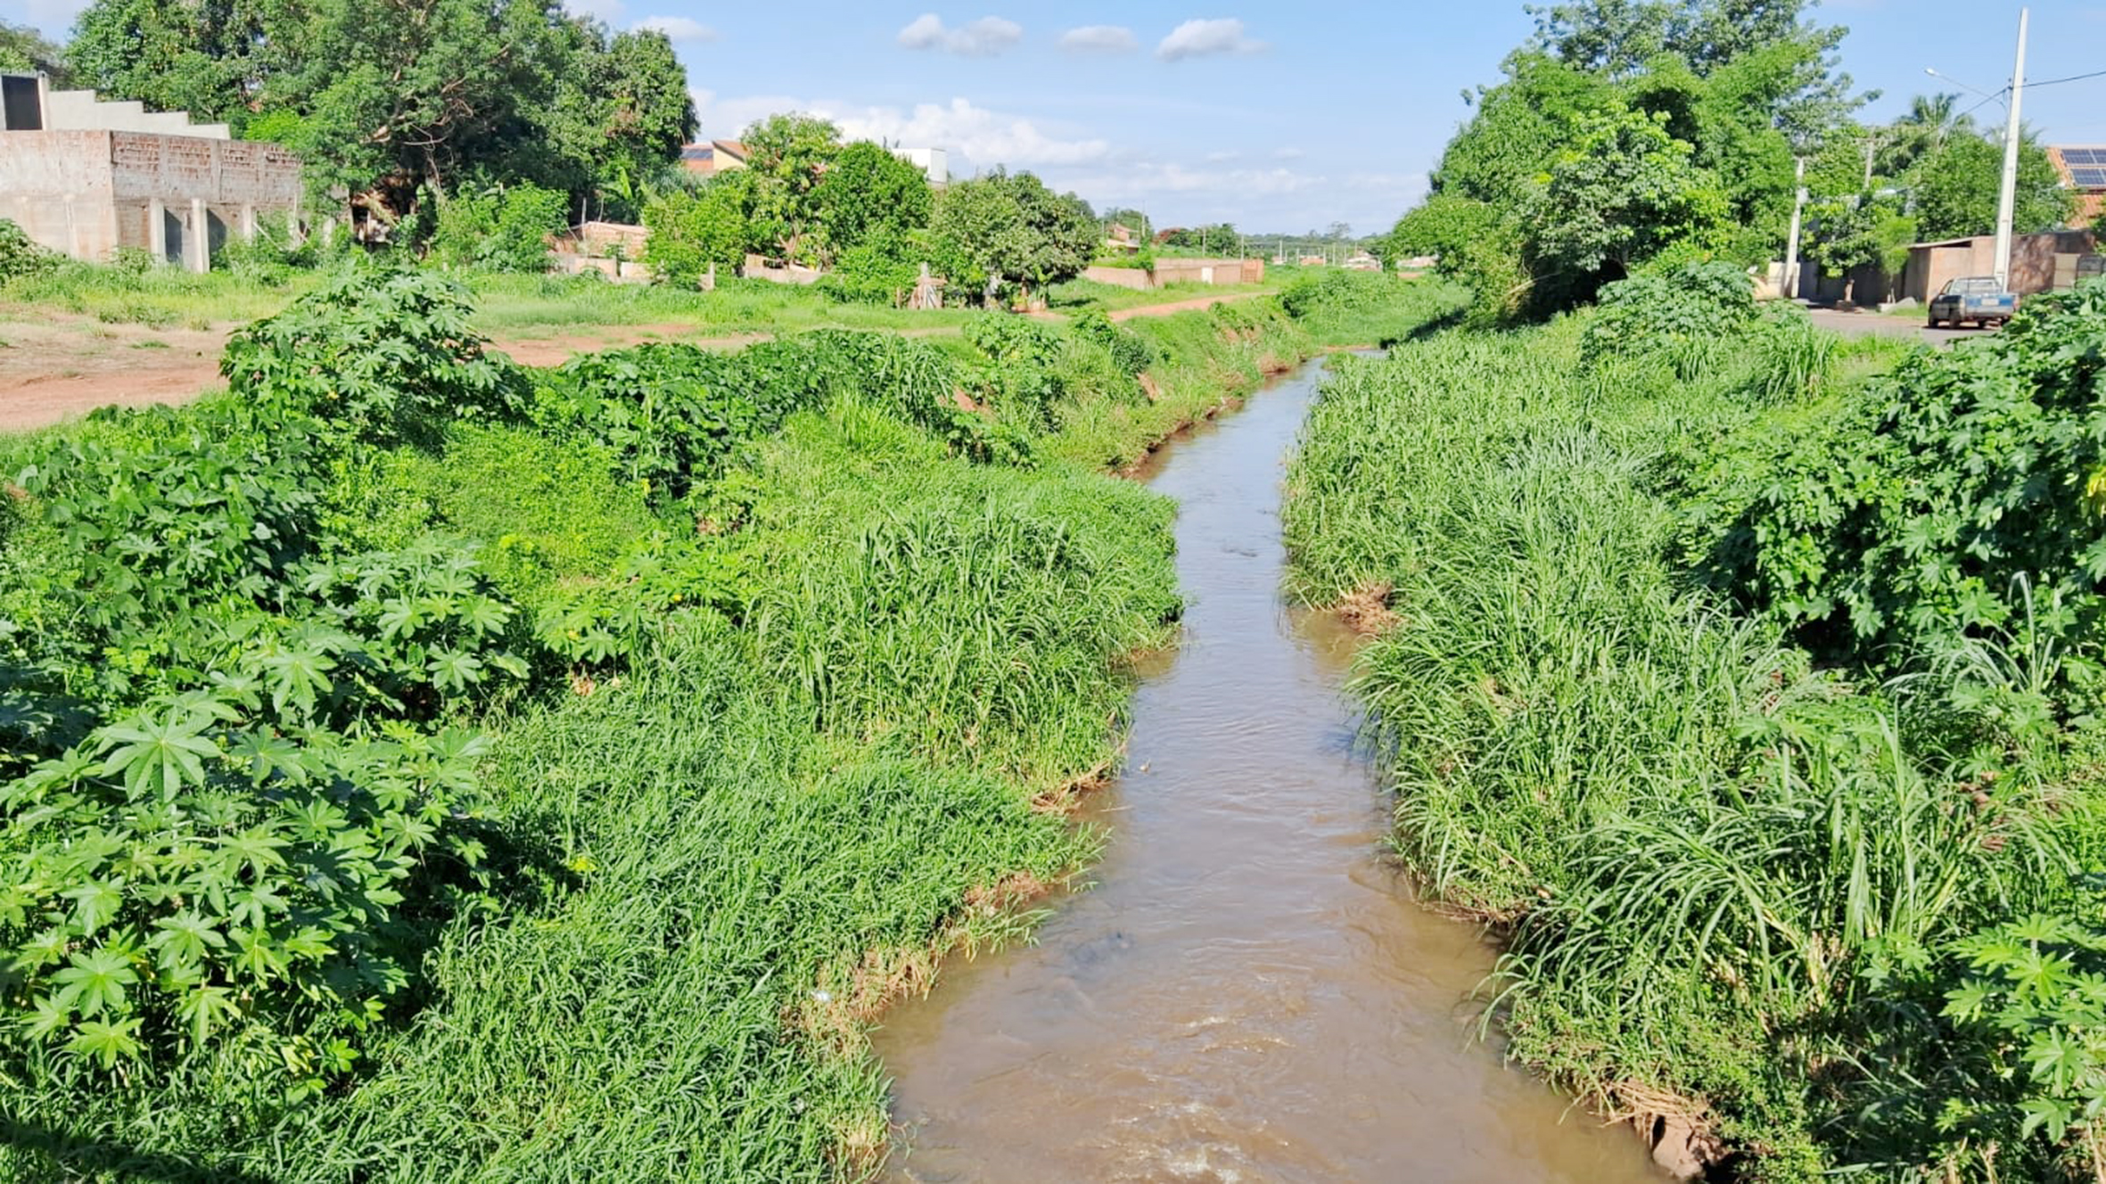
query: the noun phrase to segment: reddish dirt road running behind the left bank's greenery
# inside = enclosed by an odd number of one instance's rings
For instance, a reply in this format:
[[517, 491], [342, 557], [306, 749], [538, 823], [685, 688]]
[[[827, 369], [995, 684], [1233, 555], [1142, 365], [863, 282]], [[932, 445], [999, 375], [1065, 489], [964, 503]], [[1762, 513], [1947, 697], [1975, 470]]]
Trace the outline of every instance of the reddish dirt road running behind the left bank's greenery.
[[[1253, 295], [1264, 293], [1122, 308], [1112, 314], [1112, 320], [1169, 316]], [[32, 432], [110, 404], [190, 402], [219, 386], [219, 354], [227, 348], [230, 333], [232, 327], [101, 324], [74, 314], [0, 320], [0, 432]], [[910, 333], [922, 337], [956, 333], [956, 329], [916, 329]], [[619, 350], [642, 341], [684, 341], [703, 350], [737, 350], [769, 337], [769, 333], [703, 337], [693, 324], [609, 324], [497, 339], [491, 348], [529, 367], [554, 367], [573, 354]]]

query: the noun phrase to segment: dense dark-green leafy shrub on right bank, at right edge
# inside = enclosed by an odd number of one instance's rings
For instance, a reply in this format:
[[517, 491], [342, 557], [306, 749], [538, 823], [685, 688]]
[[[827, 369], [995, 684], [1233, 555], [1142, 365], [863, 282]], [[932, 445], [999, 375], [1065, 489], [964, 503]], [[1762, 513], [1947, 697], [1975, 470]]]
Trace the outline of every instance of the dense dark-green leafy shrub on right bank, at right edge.
[[[1916, 352], [1820, 426], [1721, 453], [1708, 577], [1881, 668], [1963, 636], [2091, 636], [2106, 598], [2106, 284]], [[2089, 678], [2089, 651], [2070, 676]]]

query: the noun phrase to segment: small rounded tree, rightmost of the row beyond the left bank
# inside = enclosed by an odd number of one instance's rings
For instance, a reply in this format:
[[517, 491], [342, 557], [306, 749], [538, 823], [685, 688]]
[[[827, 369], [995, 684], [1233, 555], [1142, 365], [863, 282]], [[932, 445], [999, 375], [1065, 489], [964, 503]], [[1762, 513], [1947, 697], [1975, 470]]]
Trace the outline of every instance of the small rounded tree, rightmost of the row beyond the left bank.
[[1055, 194], [1030, 173], [996, 169], [960, 181], [935, 206], [931, 236], [946, 274], [977, 284], [992, 303], [1005, 282], [1057, 284], [1082, 274], [1095, 251], [1097, 223], [1082, 198]]

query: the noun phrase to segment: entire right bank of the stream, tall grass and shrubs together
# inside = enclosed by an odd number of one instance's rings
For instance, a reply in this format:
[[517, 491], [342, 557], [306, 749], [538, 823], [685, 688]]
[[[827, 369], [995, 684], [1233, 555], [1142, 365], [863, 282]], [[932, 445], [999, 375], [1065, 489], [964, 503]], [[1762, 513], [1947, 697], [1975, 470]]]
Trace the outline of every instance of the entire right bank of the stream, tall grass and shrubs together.
[[1358, 691], [1400, 853], [1510, 938], [1512, 1053], [1674, 1159], [2089, 1178], [2098, 369], [2066, 350], [2100, 293], [1948, 356], [1636, 295], [1350, 364], [1306, 430], [1297, 592], [1394, 615]]

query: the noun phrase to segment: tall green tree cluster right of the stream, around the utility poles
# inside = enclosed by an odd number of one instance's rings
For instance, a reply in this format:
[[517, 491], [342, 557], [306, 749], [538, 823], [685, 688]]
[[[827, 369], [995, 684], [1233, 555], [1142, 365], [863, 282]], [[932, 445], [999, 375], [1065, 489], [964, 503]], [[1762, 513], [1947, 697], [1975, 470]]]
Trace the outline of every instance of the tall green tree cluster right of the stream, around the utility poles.
[[[2001, 150], [1952, 95], [1889, 126], [1836, 70], [1845, 29], [1811, 4], [1575, 0], [1531, 8], [1535, 38], [1481, 88], [1388, 257], [1438, 255], [1481, 327], [1542, 318], [1615, 280], [1784, 255], [1792, 158], [1807, 160], [1803, 257], [1891, 278], [1921, 238], [1988, 234]], [[2018, 230], [2070, 215], [2047, 154], [2020, 156]], [[1857, 293], [1862, 303], [1872, 297]], [[1876, 299], [1885, 299], [1879, 293]]]

